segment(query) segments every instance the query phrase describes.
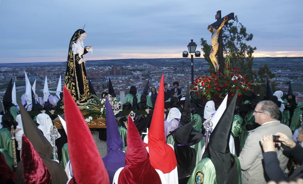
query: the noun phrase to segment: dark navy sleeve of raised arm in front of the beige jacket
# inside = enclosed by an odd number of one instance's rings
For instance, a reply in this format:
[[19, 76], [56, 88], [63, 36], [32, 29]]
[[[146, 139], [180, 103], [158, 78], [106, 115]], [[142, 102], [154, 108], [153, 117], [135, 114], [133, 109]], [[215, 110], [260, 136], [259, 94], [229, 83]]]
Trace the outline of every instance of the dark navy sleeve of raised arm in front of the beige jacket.
[[270, 180], [275, 182], [288, 181], [280, 167], [276, 152], [263, 153], [265, 172]]

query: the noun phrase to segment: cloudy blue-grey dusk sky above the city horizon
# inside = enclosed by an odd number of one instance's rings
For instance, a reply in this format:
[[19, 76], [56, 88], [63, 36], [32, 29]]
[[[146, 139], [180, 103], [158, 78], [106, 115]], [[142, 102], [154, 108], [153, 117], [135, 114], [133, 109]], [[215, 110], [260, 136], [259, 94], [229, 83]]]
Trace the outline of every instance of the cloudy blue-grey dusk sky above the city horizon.
[[[218, 3], [214, 3], [218, 2]], [[0, 63], [63, 62], [85, 25], [92, 59], [179, 58], [190, 39], [234, 12], [254, 38], [255, 57], [303, 56], [302, 0], [0, 0]]]

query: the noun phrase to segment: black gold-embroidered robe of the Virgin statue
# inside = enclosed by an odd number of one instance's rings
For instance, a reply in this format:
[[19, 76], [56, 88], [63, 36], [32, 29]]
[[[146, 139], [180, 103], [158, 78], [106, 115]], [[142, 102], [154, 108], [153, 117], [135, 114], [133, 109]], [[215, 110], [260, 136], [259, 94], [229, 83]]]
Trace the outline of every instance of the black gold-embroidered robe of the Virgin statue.
[[65, 74], [65, 86], [68, 91], [72, 94], [75, 102], [78, 105], [85, 105], [89, 101], [90, 92], [88, 87], [88, 80], [86, 77], [85, 62], [78, 63], [83, 59], [83, 55], [88, 51], [83, 47], [84, 51], [82, 55], [73, 52], [73, 44], [77, 43], [80, 35], [84, 34], [83, 29], [78, 29], [71, 38], [68, 49], [68, 58]]

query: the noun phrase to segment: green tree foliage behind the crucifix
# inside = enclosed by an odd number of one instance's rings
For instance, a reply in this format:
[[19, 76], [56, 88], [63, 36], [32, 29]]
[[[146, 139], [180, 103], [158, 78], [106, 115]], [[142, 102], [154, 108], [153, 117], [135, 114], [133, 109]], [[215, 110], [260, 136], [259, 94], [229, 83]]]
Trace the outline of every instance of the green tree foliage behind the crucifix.
[[[256, 73], [252, 70], [253, 56], [252, 54], [257, 49], [247, 45], [247, 42], [251, 41], [253, 34], [248, 34], [246, 28], [238, 21], [238, 16], [235, 16], [235, 20], [225, 23], [222, 28], [222, 40], [223, 40], [223, 54], [230, 55], [231, 67], [241, 69], [249, 80], [254, 80]], [[208, 45], [204, 38], [201, 38], [201, 45], [203, 46], [203, 56], [209, 63], [210, 70], [214, 71], [213, 65], [209, 59], [211, 52], [211, 45]]]

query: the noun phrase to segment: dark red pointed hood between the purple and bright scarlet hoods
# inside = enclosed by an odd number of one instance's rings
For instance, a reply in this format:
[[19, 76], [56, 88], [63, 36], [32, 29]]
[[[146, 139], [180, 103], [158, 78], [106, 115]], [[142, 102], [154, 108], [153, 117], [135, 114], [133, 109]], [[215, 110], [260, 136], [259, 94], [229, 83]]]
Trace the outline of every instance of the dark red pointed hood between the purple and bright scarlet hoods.
[[160, 176], [151, 166], [148, 152], [129, 115], [126, 141], [125, 167], [119, 174], [118, 184], [147, 182], [161, 184]]

